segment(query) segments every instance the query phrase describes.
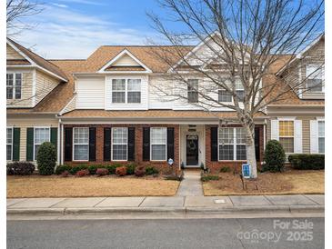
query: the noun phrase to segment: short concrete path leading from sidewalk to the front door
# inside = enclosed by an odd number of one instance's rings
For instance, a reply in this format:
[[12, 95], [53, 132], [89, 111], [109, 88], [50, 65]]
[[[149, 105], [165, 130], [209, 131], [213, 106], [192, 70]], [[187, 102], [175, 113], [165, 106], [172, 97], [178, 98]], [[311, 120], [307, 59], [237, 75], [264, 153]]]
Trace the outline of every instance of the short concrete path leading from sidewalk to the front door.
[[184, 179], [178, 187], [176, 196], [203, 196], [200, 171], [185, 170]]

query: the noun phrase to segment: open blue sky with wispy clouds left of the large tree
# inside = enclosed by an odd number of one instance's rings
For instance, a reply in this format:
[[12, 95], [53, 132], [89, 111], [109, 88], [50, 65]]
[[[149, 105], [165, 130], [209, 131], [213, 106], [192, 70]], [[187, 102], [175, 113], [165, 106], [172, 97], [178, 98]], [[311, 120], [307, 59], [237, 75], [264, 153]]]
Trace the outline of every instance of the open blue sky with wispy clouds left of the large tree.
[[45, 58], [86, 58], [99, 45], [144, 45], [158, 39], [146, 11], [155, 0], [54, 0], [27, 17], [33, 25], [14, 38]]

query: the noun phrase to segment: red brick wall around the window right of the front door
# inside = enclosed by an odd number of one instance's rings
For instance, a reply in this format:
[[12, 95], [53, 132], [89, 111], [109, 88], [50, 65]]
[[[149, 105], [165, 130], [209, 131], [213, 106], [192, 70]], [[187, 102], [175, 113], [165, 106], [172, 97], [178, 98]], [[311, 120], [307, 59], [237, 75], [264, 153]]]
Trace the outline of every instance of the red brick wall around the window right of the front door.
[[[232, 171], [241, 172], [241, 165], [246, 163], [246, 161], [211, 161], [211, 127], [216, 127], [216, 125], [206, 125], [206, 166], [211, 170], [211, 172], [219, 172], [222, 167], [229, 167]], [[240, 127], [240, 125], [229, 125], [228, 127]], [[259, 153], [261, 160], [264, 154], [264, 131], [263, 125], [257, 124], [259, 127]], [[257, 162], [257, 167], [260, 167], [261, 162]]]

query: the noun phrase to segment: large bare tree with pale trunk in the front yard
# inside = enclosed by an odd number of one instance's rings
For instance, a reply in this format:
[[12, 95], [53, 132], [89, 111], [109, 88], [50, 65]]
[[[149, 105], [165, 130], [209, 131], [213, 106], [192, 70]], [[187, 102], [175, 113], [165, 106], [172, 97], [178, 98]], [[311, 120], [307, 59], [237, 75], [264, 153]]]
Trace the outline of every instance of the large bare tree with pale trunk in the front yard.
[[[160, 0], [167, 19], [148, 14], [153, 26], [175, 49], [152, 50], [169, 65], [166, 78], [173, 85], [158, 86], [156, 93], [166, 100], [183, 100], [211, 113], [222, 108], [236, 113], [236, 119], [219, 119], [241, 124], [246, 131], [246, 160], [257, 177], [254, 118], [267, 105], [284, 98], [289, 91], [303, 89], [303, 82], [282, 83], [271, 73], [282, 55], [290, 63], [294, 55], [324, 29], [324, 1], [301, 0]], [[168, 28], [176, 22], [176, 30]], [[178, 31], [180, 29], [180, 31]], [[188, 49], [188, 41], [205, 49]], [[175, 58], [177, 63], [175, 64]], [[188, 79], [196, 75], [203, 83]], [[291, 86], [291, 87], [290, 87]], [[189, 90], [189, 91], [188, 91]], [[218, 99], [218, 94], [224, 95]], [[196, 98], [187, 92], [196, 93]], [[231, 98], [231, 101], [227, 99]]]

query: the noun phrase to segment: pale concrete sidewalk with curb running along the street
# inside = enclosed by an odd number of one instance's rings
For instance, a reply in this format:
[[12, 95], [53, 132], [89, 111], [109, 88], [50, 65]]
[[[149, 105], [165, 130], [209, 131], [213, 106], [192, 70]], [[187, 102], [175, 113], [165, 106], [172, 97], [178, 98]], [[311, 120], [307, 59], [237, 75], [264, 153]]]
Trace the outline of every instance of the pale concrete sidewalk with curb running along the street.
[[7, 199], [7, 214], [322, 213], [324, 194]]

